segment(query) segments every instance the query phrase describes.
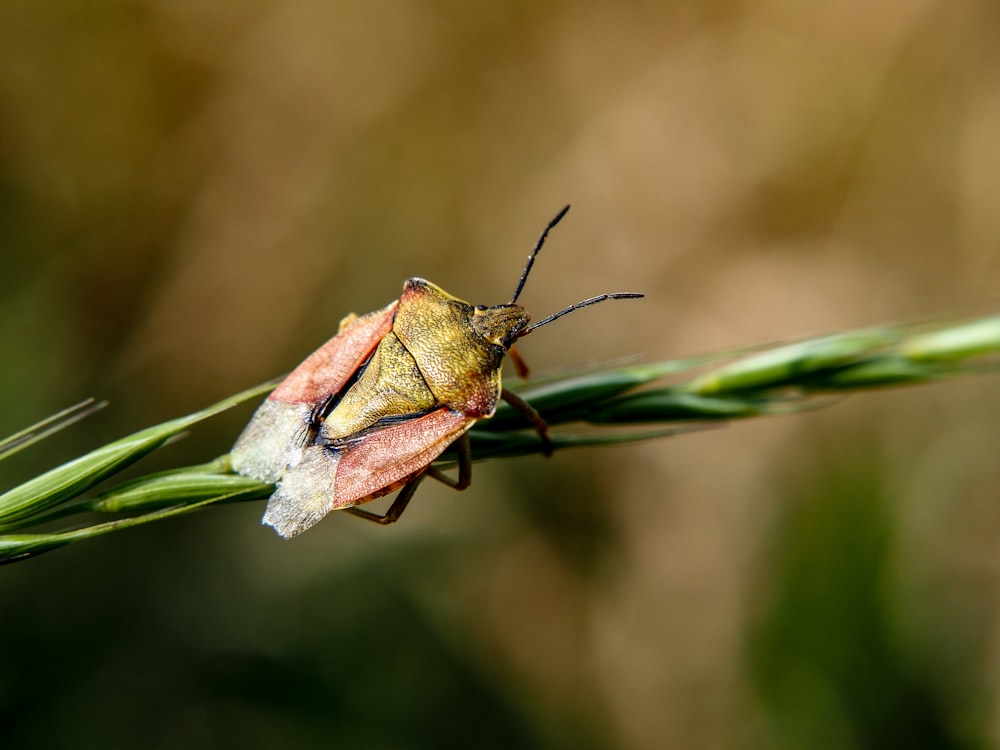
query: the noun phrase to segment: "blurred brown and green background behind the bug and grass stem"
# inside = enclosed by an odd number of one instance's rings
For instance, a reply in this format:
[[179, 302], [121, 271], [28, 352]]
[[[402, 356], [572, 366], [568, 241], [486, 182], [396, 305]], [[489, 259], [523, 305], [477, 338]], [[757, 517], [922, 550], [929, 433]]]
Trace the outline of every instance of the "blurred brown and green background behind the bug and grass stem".
[[[0, 6], [0, 434], [70, 456], [424, 276], [536, 372], [995, 312], [991, 0]], [[224, 453], [251, 407], [140, 467]], [[1000, 745], [992, 377], [0, 571], [5, 747]]]

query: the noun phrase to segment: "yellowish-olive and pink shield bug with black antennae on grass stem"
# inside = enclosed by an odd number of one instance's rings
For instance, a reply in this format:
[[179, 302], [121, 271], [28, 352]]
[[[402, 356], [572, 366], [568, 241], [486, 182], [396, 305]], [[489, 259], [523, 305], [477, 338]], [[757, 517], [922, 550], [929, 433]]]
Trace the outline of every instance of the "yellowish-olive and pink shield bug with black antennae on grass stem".
[[[346, 510], [381, 524], [396, 521], [425, 476], [462, 490], [471, 481], [468, 430], [504, 399], [535, 427], [551, 453], [547, 426], [503, 388], [505, 355], [520, 338], [564, 315], [610, 299], [602, 294], [531, 324], [517, 299], [545, 238], [528, 256], [517, 288], [500, 305], [470, 305], [420, 278], [398, 300], [349, 315], [258, 407], [230, 453], [233, 469], [276, 484], [263, 522], [285, 538]], [[519, 357], [512, 354], [515, 364]], [[519, 364], [523, 369], [523, 363]], [[458, 477], [431, 466], [458, 441]], [[401, 489], [385, 514], [357, 506]]]

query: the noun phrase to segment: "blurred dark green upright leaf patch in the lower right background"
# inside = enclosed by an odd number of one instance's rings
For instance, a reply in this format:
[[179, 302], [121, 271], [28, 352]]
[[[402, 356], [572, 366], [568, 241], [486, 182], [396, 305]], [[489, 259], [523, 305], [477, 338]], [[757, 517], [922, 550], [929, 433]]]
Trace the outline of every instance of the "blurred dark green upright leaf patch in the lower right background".
[[824, 448], [831, 458], [793, 485], [751, 636], [777, 746], [981, 746], [962, 736], [952, 696], [896, 632], [895, 540], [877, 462]]

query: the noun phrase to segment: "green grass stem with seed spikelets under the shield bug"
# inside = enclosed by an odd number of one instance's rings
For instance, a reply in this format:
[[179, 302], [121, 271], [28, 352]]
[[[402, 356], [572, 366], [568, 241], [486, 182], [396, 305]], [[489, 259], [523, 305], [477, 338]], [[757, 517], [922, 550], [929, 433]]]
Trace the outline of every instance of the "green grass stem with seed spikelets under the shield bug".
[[[993, 372], [998, 364], [1000, 316], [992, 316], [933, 327], [869, 328], [793, 344], [568, 372], [514, 389], [553, 427], [555, 449], [564, 450], [661, 438], [705, 423], [796, 413], [831, 402], [830, 394]], [[271, 485], [234, 474], [226, 456], [105, 489], [98, 485], [199, 422], [260, 398], [273, 386], [257, 386], [140, 430], [7, 490], [0, 495], [0, 563], [209, 505], [268, 497]], [[102, 405], [83, 402], [0, 440], [0, 460]], [[501, 404], [492, 419], [478, 422], [470, 436], [477, 461], [543, 450], [537, 434], [507, 404]], [[450, 449], [440, 459], [442, 465], [454, 460]], [[93, 514], [116, 518], [87, 523]], [[27, 531], [56, 523], [69, 527]]]

